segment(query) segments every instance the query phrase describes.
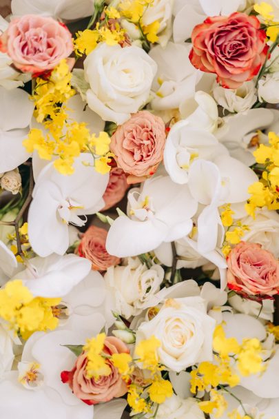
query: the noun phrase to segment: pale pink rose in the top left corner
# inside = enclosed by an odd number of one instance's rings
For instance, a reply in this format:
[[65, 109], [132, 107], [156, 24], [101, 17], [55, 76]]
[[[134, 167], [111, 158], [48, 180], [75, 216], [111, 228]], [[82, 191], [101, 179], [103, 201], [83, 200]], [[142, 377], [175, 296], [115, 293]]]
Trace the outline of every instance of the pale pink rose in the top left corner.
[[41, 74], [52, 70], [72, 50], [68, 28], [51, 17], [37, 14], [12, 19], [0, 37], [0, 51], [6, 52], [22, 72]]

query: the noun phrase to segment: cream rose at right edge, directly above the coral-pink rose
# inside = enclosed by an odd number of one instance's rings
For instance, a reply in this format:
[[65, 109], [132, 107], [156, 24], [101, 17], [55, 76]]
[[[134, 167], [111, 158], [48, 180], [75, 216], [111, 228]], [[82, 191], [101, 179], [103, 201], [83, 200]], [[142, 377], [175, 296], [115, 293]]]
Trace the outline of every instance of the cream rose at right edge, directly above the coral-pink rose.
[[245, 232], [243, 241], [259, 243], [263, 249], [273, 253], [279, 258], [279, 214], [276, 211], [258, 211], [256, 218], [247, 216], [240, 218], [242, 225], [247, 225], [249, 230]]

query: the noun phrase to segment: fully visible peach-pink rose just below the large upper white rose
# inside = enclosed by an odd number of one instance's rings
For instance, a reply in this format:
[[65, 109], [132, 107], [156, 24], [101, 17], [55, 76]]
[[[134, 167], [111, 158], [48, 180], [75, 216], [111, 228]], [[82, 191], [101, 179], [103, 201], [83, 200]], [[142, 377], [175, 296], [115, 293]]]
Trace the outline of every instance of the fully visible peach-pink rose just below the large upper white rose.
[[118, 126], [110, 143], [118, 167], [132, 175], [128, 176], [128, 183], [154, 174], [163, 160], [164, 147], [165, 124], [147, 110], [133, 114], [129, 121]]

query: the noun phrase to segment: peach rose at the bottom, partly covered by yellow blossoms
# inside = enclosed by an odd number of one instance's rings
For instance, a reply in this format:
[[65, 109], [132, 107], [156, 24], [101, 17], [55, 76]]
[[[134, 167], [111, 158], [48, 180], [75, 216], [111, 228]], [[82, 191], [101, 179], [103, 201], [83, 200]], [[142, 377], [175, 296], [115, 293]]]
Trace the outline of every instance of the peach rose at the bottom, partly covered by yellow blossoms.
[[[125, 343], [114, 336], [105, 338], [103, 352], [108, 355], [130, 353]], [[74, 395], [87, 405], [97, 405], [101, 402], [108, 402], [112, 398], [124, 396], [127, 393], [126, 382], [110, 359], [107, 359], [106, 362], [111, 369], [109, 376], [101, 376], [98, 380], [87, 378], [87, 356], [83, 352], [76, 359], [72, 371], [61, 372], [61, 380], [64, 384], [68, 383]]]

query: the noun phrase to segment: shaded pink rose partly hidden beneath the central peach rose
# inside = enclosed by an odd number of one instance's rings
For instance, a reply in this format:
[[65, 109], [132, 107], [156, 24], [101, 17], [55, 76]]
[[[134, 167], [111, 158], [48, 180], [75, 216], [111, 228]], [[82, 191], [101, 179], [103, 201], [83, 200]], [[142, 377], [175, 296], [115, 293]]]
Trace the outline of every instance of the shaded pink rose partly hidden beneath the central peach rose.
[[121, 201], [128, 187], [127, 176], [123, 170], [119, 167], [112, 167], [112, 170], [110, 170], [110, 180], [103, 194], [105, 207], [103, 207], [102, 211], [108, 210]]

